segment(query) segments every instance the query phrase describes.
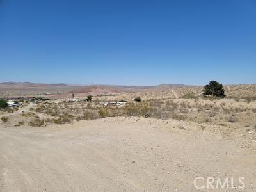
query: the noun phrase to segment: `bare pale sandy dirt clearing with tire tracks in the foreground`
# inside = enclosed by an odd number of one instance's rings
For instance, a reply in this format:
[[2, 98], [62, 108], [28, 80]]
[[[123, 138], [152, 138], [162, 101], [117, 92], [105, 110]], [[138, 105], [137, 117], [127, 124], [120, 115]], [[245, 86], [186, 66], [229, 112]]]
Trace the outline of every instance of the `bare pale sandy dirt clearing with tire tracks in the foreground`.
[[195, 188], [196, 177], [234, 177], [236, 185], [244, 177], [246, 189], [231, 191], [256, 190], [255, 152], [176, 124], [107, 118], [0, 126], [0, 191], [207, 191]]

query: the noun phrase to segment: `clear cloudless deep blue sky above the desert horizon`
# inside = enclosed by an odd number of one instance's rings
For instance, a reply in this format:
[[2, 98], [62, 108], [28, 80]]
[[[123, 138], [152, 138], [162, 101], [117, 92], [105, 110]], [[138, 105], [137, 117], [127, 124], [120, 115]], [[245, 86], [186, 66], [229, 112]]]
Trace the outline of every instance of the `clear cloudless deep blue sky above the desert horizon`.
[[0, 0], [0, 81], [256, 83], [255, 0]]

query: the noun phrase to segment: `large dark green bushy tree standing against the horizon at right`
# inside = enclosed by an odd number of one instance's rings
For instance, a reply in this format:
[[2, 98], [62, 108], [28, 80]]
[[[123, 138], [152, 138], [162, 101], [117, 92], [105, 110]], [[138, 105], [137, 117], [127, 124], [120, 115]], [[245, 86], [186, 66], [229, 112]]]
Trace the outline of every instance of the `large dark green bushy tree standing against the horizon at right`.
[[212, 95], [214, 97], [225, 97], [225, 90], [223, 85], [217, 81], [210, 81], [209, 84], [204, 86], [204, 96]]

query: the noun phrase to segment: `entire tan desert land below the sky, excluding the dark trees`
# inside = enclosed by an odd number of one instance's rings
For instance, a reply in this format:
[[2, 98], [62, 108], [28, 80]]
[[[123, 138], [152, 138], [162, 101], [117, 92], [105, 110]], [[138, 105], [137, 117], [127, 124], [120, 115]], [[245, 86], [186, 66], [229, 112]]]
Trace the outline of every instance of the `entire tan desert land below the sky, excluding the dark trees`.
[[0, 112], [1, 191], [229, 191], [217, 178], [256, 189], [255, 84], [224, 86], [225, 98], [171, 84], [0, 88], [19, 103]]

